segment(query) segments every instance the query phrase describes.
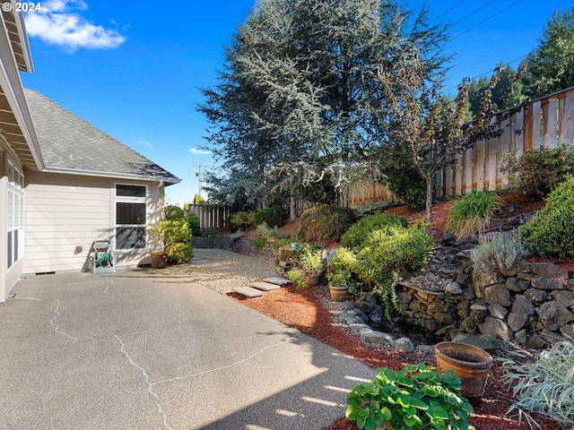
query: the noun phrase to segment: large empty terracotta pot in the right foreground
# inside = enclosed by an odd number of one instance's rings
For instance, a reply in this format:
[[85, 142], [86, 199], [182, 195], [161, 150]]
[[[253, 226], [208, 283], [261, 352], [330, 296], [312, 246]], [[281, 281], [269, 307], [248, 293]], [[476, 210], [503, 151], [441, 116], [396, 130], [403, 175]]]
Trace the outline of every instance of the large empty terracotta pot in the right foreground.
[[460, 394], [472, 405], [483, 400], [484, 389], [491, 369], [492, 357], [481, 348], [459, 342], [440, 342], [434, 346], [441, 373], [455, 371], [461, 379]]

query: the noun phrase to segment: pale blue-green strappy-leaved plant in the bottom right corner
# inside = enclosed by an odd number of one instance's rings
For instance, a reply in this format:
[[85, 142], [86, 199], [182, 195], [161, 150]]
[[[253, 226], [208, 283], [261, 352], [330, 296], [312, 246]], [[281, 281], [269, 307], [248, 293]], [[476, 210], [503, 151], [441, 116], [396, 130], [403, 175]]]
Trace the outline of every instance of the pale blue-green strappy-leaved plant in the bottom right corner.
[[[550, 351], [533, 361], [516, 352], [515, 358], [502, 359], [502, 381], [512, 388], [517, 402], [514, 410], [525, 409], [558, 421], [564, 428], [574, 427], [574, 340], [556, 342]], [[534, 419], [527, 417], [528, 419]]]

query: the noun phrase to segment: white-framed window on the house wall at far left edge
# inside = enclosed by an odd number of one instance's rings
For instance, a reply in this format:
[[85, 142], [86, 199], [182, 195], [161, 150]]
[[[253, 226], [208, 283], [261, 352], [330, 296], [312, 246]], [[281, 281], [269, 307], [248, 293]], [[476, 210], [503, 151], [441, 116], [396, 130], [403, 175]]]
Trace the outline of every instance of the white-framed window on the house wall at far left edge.
[[6, 267], [10, 269], [24, 254], [24, 174], [6, 160]]

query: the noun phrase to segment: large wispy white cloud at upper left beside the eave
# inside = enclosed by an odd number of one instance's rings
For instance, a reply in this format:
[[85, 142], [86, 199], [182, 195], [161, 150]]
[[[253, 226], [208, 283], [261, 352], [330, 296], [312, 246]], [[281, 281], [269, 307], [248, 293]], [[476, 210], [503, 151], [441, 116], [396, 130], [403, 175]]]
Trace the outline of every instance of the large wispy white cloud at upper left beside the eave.
[[48, 0], [42, 2], [40, 12], [25, 13], [26, 30], [52, 45], [71, 51], [79, 47], [105, 49], [118, 47], [126, 38], [116, 30], [88, 22], [81, 14], [88, 5], [83, 0]]

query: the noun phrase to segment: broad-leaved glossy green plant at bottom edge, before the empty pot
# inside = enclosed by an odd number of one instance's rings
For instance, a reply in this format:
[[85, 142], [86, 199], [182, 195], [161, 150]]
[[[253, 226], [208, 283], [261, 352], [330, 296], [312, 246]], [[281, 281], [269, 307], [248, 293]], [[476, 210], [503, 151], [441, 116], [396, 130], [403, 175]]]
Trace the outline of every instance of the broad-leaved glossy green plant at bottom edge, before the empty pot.
[[[359, 428], [467, 430], [473, 407], [460, 395], [460, 378], [432, 367], [407, 365], [401, 371], [378, 368], [371, 383], [347, 396], [345, 416]], [[470, 427], [472, 428], [472, 427]]]

